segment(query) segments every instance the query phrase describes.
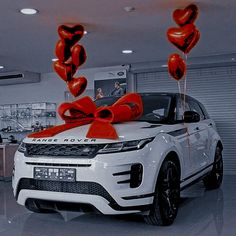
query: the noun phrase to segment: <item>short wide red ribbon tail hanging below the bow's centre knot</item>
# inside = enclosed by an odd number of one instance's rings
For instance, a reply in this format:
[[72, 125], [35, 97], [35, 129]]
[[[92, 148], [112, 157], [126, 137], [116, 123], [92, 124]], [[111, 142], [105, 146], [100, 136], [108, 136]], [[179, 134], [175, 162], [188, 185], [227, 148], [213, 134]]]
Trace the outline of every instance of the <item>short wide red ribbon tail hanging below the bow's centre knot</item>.
[[118, 139], [115, 128], [107, 121], [95, 120], [89, 127], [87, 138]]

